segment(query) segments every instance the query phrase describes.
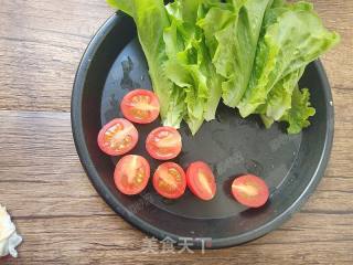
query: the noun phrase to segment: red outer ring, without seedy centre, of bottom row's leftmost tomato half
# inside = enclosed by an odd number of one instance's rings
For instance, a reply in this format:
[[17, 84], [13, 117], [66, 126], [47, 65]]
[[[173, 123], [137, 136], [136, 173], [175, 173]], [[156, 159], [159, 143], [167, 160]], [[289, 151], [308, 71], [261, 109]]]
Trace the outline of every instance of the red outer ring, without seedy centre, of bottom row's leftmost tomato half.
[[[125, 162], [128, 162], [127, 160], [129, 160], [130, 158], [132, 158], [132, 156], [136, 156], [136, 157], [139, 157], [138, 159], [141, 159], [141, 162], [143, 165], [143, 168], [145, 168], [145, 173], [146, 173], [146, 178], [143, 179], [143, 182], [141, 183], [140, 187], [136, 188], [135, 190], [127, 190], [125, 187], [121, 186], [121, 174], [120, 174], [120, 171], [121, 171], [121, 167], [122, 167], [122, 163]], [[115, 168], [115, 171], [114, 171], [114, 182], [115, 182], [115, 186], [117, 187], [117, 189], [126, 194], [126, 195], [136, 195], [140, 192], [142, 192], [145, 190], [145, 188], [147, 187], [148, 184], [148, 181], [150, 179], [150, 165], [148, 163], [148, 161], [146, 160], [146, 158], [141, 157], [141, 156], [137, 156], [137, 155], [128, 155], [128, 156], [125, 156], [122, 157], [116, 168]]]

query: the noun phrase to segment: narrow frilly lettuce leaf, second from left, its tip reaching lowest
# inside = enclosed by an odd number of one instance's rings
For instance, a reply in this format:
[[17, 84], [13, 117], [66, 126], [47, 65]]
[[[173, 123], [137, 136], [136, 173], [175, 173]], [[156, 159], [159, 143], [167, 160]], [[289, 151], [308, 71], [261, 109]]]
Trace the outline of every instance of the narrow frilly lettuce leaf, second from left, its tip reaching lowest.
[[175, 1], [167, 6], [171, 25], [164, 30], [163, 35], [168, 51], [164, 70], [174, 84], [184, 88], [185, 120], [194, 134], [204, 120], [208, 88], [207, 78], [201, 70], [204, 60], [202, 36], [195, 26], [199, 6], [190, 3], [193, 1]]

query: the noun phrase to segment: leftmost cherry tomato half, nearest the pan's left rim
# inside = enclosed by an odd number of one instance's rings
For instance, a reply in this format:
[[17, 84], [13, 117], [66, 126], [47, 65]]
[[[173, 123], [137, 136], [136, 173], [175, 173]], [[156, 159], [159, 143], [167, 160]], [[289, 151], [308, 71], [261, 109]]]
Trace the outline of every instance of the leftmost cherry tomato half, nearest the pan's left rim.
[[120, 156], [130, 151], [138, 138], [139, 134], [129, 120], [116, 118], [100, 129], [98, 146], [105, 153]]

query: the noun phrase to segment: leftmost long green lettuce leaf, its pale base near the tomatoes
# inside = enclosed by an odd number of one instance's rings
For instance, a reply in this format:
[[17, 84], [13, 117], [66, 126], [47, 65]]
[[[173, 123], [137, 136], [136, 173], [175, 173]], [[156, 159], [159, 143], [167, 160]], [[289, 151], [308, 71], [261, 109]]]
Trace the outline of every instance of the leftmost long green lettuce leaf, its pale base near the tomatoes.
[[161, 65], [167, 61], [163, 31], [170, 26], [163, 1], [107, 0], [107, 2], [132, 17], [149, 65], [153, 91], [160, 100], [163, 124], [178, 128], [185, 113], [183, 95], [180, 87], [170, 82], [161, 71]]

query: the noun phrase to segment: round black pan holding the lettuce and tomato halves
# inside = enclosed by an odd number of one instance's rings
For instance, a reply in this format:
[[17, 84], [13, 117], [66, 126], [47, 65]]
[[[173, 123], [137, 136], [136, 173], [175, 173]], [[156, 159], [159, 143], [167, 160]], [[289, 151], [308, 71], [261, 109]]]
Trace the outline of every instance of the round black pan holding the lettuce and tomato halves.
[[[214, 200], [204, 202], [189, 191], [179, 200], [159, 197], [149, 186], [135, 197], [121, 194], [113, 172], [118, 158], [104, 155], [96, 142], [101, 125], [121, 117], [119, 102], [129, 91], [151, 89], [148, 66], [133, 21], [113, 15], [88, 45], [78, 67], [72, 96], [72, 127], [81, 161], [98, 193], [125, 220], [160, 240], [190, 237], [193, 247], [217, 248], [257, 239], [282, 224], [313, 192], [323, 176], [333, 138], [330, 86], [320, 62], [311, 63], [300, 81], [309, 87], [317, 114], [299, 135], [285, 126], [265, 129], [257, 116], [243, 119], [226, 106], [192, 137], [180, 129], [183, 151], [175, 159], [182, 167], [194, 160], [210, 163], [217, 180]], [[149, 131], [160, 125], [137, 126], [140, 141], [131, 153], [159, 165], [145, 150]], [[270, 188], [270, 199], [260, 209], [246, 209], [231, 195], [231, 181], [240, 173], [255, 173]]]

